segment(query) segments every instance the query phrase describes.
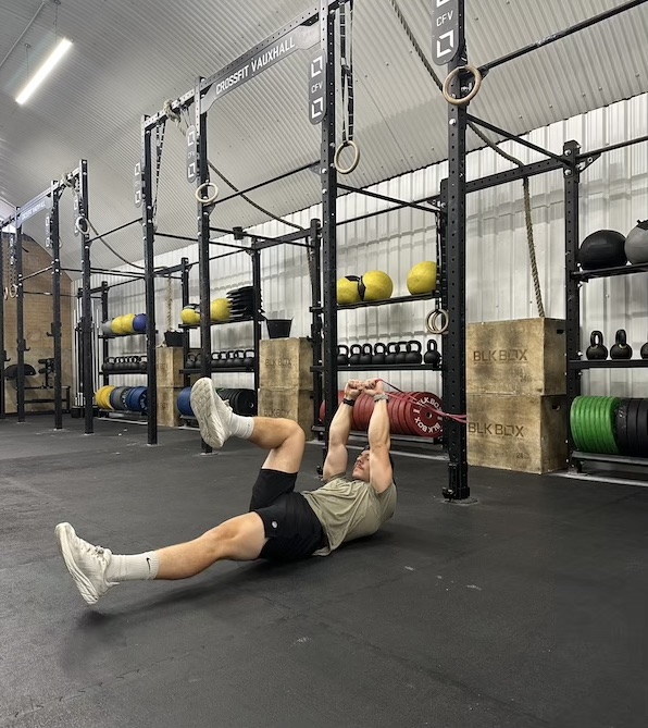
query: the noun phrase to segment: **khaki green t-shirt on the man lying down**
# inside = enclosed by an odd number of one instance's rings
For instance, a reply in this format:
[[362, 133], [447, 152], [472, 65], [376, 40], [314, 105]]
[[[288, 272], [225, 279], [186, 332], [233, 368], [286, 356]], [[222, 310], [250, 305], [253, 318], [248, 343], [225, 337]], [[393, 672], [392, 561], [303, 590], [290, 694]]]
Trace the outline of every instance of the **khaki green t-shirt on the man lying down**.
[[375, 533], [396, 510], [394, 483], [383, 493], [376, 493], [371, 483], [346, 474], [335, 476], [316, 491], [301, 494], [328, 539], [328, 545], [314, 552], [315, 556], [327, 556], [346, 541]]

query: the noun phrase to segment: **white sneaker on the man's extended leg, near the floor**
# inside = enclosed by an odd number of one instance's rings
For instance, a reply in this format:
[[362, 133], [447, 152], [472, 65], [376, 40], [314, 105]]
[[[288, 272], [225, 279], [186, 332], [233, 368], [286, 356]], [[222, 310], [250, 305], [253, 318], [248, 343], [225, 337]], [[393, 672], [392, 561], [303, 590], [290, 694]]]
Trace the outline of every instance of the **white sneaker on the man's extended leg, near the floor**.
[[76, 588], [87, 604], [96, 604], [102, 594], [117, 583], [105, 579], [112, 552], [79, 539], [70, 523], [59, 523], [55, 533], [63, 560]]

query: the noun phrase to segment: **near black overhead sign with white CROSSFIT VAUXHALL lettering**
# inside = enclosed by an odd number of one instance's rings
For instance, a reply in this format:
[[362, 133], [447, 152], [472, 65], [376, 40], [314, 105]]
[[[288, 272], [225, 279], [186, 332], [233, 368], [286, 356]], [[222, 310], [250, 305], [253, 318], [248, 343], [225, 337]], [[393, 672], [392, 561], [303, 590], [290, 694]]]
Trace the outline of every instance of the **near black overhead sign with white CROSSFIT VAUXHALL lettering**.
[[244, 55], [214, 76], [209, 91], [203, 97], [202, 110], [207, 111], [216, 99], [242, 86], [247, 81], [254, 78], [296, 50], [314, 46], [317, 40], [316, 25], [299, 25], [252, 55]]

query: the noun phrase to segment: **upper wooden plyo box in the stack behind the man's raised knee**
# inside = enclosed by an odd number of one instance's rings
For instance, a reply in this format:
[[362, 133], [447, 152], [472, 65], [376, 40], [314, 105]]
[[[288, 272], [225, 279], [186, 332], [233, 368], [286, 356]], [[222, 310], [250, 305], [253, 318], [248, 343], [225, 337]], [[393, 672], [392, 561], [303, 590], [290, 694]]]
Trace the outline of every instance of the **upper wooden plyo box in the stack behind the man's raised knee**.
[[306, 338], [263, 338], [259, 346], [259, 386], [311, 390], [313, 348]]

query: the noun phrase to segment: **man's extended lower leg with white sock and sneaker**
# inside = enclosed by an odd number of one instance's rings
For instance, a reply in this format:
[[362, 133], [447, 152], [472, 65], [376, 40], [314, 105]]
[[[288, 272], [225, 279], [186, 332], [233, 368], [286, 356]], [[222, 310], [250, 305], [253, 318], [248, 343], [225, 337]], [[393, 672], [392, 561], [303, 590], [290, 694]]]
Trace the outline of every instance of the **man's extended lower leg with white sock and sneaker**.
[[55, 532], [65, 566], [88, 604], [122, 581], [187, 579], [223, 559], [253, 560], [267, 541], [256, 513], [230, 518], [192, 541], [134, 555], [95, 546], [70, 523], [59, 523]]

